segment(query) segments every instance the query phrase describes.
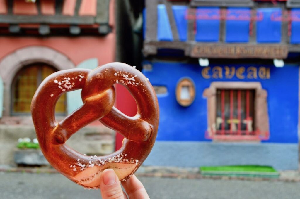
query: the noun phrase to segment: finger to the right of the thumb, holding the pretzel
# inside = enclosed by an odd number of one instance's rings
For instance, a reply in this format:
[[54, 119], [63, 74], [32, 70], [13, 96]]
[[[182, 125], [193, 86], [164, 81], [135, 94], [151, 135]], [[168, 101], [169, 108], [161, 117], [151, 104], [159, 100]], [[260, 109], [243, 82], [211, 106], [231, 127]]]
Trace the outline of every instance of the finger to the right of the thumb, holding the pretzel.
[[122, 182], [122, 185], [130, 199], [149, 199], [145, 187], [135, 175]]

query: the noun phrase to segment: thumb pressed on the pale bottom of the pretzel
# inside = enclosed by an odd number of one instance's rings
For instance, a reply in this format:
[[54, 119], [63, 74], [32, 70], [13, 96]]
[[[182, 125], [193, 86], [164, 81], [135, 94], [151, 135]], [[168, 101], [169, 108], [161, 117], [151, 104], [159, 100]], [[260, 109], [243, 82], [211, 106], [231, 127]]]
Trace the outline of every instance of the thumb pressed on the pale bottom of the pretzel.
[[119, 178], [113, 169], [105, 169], [102, 172], [100, 189], [103, 199], [124, 199]]

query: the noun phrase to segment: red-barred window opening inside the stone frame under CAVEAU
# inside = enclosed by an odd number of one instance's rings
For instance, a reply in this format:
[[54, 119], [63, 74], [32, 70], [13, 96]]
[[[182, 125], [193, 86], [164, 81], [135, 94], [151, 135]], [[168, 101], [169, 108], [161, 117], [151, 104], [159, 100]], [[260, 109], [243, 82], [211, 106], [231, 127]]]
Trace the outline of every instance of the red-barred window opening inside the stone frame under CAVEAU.
[[255, 90], [217, 89], [216, 136], [256, 136]]

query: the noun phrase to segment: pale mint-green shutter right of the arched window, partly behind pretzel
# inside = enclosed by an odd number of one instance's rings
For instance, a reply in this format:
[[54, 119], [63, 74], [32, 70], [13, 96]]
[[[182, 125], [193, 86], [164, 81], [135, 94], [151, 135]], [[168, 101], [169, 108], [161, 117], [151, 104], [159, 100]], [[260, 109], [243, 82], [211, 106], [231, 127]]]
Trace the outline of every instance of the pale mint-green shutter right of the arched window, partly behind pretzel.
[[[84, 60], [83, 62], [79, 63], [76, 68], [80, 69], [95, 69], [98, 66], [98, 59], [91, 58], [88, 60]], [[2, 83], [3, 84], [3, 83]], [[2, 85], [3, 90], [3, 85]], [[72, 113], [74, 110], [82, 106], [82, 100], [80, 95], [81, 89], [67, 92], [67, 112], [68, 114]], [[3, 98], [3, 91], [1, 92], [1, 100]], [[1, 111], [2, 113], [2, 111]]]

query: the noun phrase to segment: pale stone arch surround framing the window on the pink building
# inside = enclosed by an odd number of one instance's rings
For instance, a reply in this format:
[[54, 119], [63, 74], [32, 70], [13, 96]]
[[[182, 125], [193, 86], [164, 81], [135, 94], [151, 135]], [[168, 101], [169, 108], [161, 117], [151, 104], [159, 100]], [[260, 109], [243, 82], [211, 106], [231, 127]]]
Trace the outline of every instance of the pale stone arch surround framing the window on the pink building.
[[16, 73], [32, 63], [47, 63], [57, 70], [73, 69], [74, 63], [64, 54], [46, 46], [20, 48], [0, 61], [0, 76], [4, 82], [3, 116], [10, 116], [10, 86]]

